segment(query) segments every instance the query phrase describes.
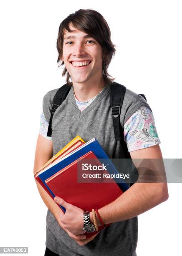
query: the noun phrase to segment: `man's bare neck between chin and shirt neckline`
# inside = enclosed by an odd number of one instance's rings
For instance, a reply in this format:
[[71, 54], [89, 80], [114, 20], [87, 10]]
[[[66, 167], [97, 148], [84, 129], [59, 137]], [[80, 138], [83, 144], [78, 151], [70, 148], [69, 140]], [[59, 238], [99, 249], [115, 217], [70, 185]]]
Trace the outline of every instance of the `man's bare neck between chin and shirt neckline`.
[[105, 84], [103, 77], [97, 80], [89, 79], [83, 83], [73, 81], [75, 96], [81, 102], [90, 100], [101, 92]]

